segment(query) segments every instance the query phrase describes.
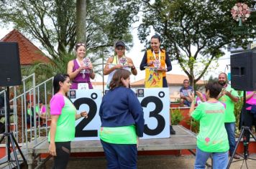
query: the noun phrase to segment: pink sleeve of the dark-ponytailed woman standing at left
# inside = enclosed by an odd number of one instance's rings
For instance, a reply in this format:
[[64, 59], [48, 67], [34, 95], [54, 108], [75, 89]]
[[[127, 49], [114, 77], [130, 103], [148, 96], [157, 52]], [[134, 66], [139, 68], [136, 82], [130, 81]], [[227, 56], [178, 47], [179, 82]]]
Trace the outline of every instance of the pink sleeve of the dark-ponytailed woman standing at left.
[[64, 96], [58, 93], [55, 94], [50, 100], [50, 115], [61, 115], [64, 105]]

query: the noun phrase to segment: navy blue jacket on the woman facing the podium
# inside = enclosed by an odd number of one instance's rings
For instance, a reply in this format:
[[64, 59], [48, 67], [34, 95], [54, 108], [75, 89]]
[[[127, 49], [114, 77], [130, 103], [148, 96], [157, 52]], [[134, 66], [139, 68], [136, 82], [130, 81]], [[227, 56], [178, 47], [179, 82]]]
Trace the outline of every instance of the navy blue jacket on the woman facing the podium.
[[104, 95], [99, 116], [101, 127], [135, 125], [137, 136], [143, 136], [144, 113], [134, 92], [126, 87], [116, 87]]

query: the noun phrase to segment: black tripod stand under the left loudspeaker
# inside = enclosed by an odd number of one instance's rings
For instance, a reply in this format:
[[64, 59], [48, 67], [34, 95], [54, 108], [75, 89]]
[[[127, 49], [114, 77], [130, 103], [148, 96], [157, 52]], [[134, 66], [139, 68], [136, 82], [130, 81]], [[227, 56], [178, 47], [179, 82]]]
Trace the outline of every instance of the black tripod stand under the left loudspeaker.
[[[6, 125], [7, 125], [7, 132], [4, 132], [4, 135], [0, 139], [0, 143], [6, 138], [6, 148], [7, 148], [7, 161], [4, 163], [9, 163], [10, 168], [18, 168], [20, 169], [20, 163], [24, 162], [27, 165], [27, 160], [24, 158], [22, 150], [19, 148], [17, 141], [13, 135], [13, 132], [10, 132], [10, 102], [9, 102], [9, 87], [6, 87]], [[12, 146], [10, 146], [12, 145]], [[18, 149], [19, 154], [22, 156], [22, 160], [19, 160], [16, 148]], [[11, 157], [11, 152], [14, 154], [14, 160]], [[1, 164], [4, 164], [1, 163]], [[0, 165], [1, 165], [0, 164]]]

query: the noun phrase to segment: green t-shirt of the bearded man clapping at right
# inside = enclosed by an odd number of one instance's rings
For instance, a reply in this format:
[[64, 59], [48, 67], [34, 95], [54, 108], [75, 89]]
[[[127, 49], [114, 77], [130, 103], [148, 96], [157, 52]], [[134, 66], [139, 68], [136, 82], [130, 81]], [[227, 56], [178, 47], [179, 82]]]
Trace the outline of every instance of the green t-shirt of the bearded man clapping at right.
[[[227, 85], [226, 91], [231, 92], [234, 97], [239, 97], [237, 90], [234, 90], [230, 85]], [[219, 101], [226, 104], [224, 122], [235, 122], [236, 117], [234, 117], [234, 102], [227, 95], [220, 97]]]

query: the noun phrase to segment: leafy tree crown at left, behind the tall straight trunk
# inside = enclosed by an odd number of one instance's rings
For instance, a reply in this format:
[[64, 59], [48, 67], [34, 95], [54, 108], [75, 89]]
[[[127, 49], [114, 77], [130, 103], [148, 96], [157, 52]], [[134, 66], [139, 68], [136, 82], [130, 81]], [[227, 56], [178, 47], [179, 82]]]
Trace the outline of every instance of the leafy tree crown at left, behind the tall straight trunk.
[[[65, 62], [65, 57], [73, 59], [72, 52], [76, 44], [76, 19], [86, 19], [86, 46], [87, 54], [91, 56], [94, 66], [101, 57], [106, 57], [117, 39], [123, 39], [129, 45], [132, 42], [130, 25], [136, 21], [136, 14], [140, 9], [138, 0], [14, 0], [0, 2], [2, 23], [13, 23], [15, 28], [25, 34], [29, 39], [40, 42], [42, 49], [47, 53], [51, 64], [37, 64], [33, 69], [63, 71], [58, 68], [57, 62]], [[76, 3], [86, 8], [86, 16], [78, 12], [76, 16]], [[78, 39], [80, 41], [80, 39]], [[83, 40], [82, 40], [83, 41]], [[65, 63], [61, 63], [65, 65]], [[65, 66], [66, 67], [66, 66]], [[66, 69], [66, 68], [65, 68]], [[96, 72], [100, 72], [99, 69]], [[54, 72], [55, 73], [55, 72]], [[42, 75], [40, 73], [37, 73]], [[49, 74], [47, 77], [50, 77]]]

